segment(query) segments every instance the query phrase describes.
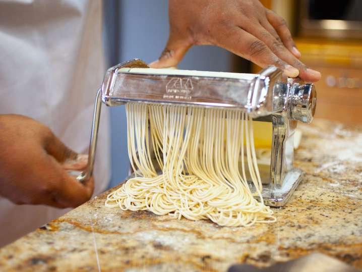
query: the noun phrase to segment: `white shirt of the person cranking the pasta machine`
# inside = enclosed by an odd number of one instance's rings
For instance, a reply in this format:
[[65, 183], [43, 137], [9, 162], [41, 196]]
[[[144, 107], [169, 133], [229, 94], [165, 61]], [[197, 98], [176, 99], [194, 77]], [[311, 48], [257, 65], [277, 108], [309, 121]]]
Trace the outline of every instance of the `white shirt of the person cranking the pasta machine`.
[[[73, 150], [87, 153], [105, 71], [101, 12], [98, 0], [0, 0], [0, 114], [31, 117]], [[110, 177], [104, 106], [100, 122], [95, 194]], [[0, 246], [66, 211], [0, 198]]]

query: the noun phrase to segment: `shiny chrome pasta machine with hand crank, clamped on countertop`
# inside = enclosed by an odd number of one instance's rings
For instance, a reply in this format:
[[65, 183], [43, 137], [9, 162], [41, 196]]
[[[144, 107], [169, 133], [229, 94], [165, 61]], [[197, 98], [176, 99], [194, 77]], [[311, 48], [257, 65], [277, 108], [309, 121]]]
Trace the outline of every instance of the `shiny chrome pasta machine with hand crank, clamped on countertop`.
[[[259, 74], [238, 74], [152, 69], [135, 59], [116, 65], [105, 74], [95, 100], [88, 165], [78, 180], [92, 175], [102, 102], [117, 106], [136, 101], [233, 107], [249, 113], [253, 121], [266, 128], [257, 130], [255, 137], [270, 141], [268, 164], [263, 166], [258, 162], [267, 205], [284, 205], [303, 176], [301, 170], [293, 167], [293, 136], [297, 121], [310, 123], [313, 119], [316, 108], [313, 84], [286, 78], [274, 66]], [[269, 140], [265, 140], [265, 134], [270, 134]], [[255, 142], [258, 145], [258, 140]]]

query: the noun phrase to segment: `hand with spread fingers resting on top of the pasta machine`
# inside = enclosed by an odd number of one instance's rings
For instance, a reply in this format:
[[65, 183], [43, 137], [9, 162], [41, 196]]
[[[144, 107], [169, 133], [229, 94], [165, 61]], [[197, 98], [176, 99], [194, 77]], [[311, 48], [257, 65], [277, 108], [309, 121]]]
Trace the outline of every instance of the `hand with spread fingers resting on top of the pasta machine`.
[[151, 67], [176, 66], [191, 46], [211, 44], [261, 67], [275, 65], [289, 77], [321, 78], [298, 60], [284, 19], [258, 0], [169, 0], [169, 24], [166, 48]]

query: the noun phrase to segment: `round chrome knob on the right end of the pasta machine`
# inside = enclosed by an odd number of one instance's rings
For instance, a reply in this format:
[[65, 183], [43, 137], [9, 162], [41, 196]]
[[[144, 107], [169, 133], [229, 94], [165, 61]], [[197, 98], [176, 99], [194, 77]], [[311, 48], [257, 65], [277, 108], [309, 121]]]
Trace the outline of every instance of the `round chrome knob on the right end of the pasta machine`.
[[316, 101], [317, 92], [314, 84], [293, 84], [291, 88], [291, 119], [311, 123], [316, 112]]

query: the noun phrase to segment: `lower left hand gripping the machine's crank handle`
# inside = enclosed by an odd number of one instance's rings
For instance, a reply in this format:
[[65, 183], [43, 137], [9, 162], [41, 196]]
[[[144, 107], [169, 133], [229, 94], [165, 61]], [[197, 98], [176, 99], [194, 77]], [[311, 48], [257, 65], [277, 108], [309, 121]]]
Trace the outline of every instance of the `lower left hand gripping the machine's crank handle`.
[[76, 207], [92, 195], [93, 178], [83, 185], [67, 173], [77, 153], [49, 128], [24, 116], [0, 115], [0, 195], [16, 204]]

